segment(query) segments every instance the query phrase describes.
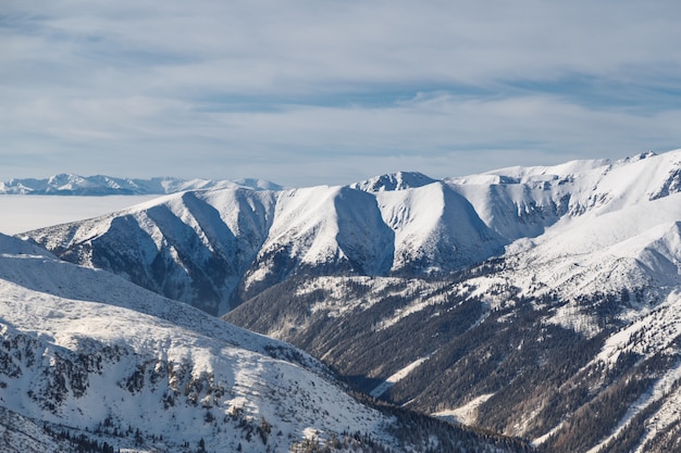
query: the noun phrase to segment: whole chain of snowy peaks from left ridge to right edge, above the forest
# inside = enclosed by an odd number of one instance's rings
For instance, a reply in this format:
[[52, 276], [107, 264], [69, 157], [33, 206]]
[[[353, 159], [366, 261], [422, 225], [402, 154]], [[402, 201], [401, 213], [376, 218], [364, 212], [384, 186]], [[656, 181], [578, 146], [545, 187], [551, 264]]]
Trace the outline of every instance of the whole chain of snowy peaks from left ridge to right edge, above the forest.
[[[677, 151], [445, 181], [398, 173], [346, 187], [230, 187], [177, 193], [22, 237], [212, 314], [296, 274], [442, 275], [500, 256], [505, 247], [509, 260], [527, 250], [518, 266], [531, 261], [546, 270], [556, 267], [552, 256], [559, 256], [569, 267], [574, 260], [565, 257], [579, 252], [594, 263], [617, 260], [623, 275], [654, 279], [657, 270], [639, 265], [631, 251], [595, 253], [607, 241], [616, 246], [637, 236], [645, 242], [654, 228], [681, 221], [669, 201], [680, 180]], [[642, 214], [651, 210], [654, 215]], [[645, 223], [637, 221], [641, 215]], [[594, 232], [597, 225], [611, 227]], [[590, 237], [598, 239], [577, 248]], [[629, 267], [627, 257], [634, 260]], [[607, 273], [612, 265], [600, 268]], [[561, 281], [575, 280], [584, 269], [567, 268]], [[598, 285], [595, 272], [586, 270]]]

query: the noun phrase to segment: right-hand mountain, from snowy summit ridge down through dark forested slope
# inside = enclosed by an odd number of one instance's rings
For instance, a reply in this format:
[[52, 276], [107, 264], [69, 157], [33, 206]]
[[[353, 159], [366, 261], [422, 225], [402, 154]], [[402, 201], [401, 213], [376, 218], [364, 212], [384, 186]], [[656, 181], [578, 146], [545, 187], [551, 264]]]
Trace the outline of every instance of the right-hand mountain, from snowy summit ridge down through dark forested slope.
[[680, 169], [676, 151], [448, 179], [504, 253], [439, 279], [296, 278], [226, 318], [540, 451], [680, 451]]

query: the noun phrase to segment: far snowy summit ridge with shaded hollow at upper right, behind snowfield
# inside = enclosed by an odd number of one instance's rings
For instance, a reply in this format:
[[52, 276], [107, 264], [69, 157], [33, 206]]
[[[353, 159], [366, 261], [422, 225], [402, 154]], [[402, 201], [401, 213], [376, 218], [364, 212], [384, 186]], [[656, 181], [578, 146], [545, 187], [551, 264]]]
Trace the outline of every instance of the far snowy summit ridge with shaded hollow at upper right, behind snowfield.
[[681, 151], [619, 161], [516, 167], [446, 180], [492, 229], [509, 240], [536, 237], [559, 221], [603, 214], [679, 191]]

